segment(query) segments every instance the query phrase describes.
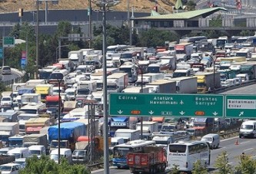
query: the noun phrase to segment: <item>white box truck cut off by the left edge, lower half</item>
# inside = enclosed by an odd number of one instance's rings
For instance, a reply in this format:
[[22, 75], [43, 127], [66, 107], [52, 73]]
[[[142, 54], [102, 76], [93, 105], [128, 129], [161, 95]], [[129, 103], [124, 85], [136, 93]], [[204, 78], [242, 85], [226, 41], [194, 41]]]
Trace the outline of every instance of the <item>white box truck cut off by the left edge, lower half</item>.
[[19, 126], [17, 122], [0, 123], [0, 140], [8, 146], [8, 137], [15, 136], [19, 133]]

